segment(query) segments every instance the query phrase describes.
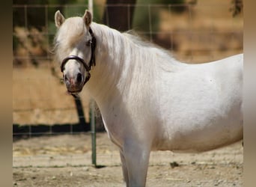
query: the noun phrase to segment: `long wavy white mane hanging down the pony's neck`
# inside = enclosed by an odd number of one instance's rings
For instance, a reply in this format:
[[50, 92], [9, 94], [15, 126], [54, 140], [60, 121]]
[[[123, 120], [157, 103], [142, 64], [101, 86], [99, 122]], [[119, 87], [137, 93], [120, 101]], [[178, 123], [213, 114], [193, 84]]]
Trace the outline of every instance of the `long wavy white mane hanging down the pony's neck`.
[[[175, 72], [188, 65], [176, 61], [167, 50], [141, 40], [135, 34], [121, 33], [94, 22], [92, 22], [91, 28], [98, 37], [97, 41], [99, 40], [96, 47], [97, 65], [95, 69], [99, 64], [101, 67], [95, 74], [106, 78], [100, 80], [104, 82], [104, 85], [109, 85], [109, 87], [118, 85], [121, 93], [129, 90], [127, 85], [131, 85], [131, 82], [136, 82], [139, 89], [144, 89], [144, 84], [156, 84], [157, 72]], [[94, 76], [94, 70], [92, 76]], [[111, 76], [110, 79], [107, 78], [109, 76]], [[105, 82], [106, 80], [112, 81]], [[95, 87], [92, 82], [88, 83], [88, 87], [90, 85]]]

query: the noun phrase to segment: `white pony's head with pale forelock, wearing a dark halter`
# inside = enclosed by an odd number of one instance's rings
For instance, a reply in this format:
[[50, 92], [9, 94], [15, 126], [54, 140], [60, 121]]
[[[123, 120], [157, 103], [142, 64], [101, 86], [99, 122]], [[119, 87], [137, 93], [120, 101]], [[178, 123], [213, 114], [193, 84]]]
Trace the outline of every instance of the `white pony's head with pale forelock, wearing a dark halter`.
[[55, 55], [61, 63], [67, 91], [71, 94], [82, 91], [90, 79], [91, 67], [95, 65], [96, 39], [90, 27], [91, 22], [92, 16], [88, 10], [82, 17], [68, 19], [59, 10], [55, 13], [55, 25], [58, 28]]

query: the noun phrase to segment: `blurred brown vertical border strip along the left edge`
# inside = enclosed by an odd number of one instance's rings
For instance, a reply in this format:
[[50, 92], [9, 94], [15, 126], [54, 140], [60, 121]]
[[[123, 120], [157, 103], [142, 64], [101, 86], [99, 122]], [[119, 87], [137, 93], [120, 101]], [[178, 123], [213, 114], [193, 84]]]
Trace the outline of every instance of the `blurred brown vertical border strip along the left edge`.
[[12, 184], [12, 1], [1, 1], [0, 186]]

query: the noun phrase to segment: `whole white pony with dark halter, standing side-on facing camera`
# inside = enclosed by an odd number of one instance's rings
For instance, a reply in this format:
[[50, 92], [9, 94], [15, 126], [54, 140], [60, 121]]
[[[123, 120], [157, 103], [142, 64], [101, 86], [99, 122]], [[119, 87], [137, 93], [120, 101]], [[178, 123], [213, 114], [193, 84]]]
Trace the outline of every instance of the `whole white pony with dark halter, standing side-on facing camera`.
[[69, 19], [57, 11], [55, 25], [67, 91], [85, 85], [97, 102], [127, 186], [145, 186], [151, 150], [201, 152], [243, 139], [243, 54], [183, 64], [92, 22], [88, 10]]

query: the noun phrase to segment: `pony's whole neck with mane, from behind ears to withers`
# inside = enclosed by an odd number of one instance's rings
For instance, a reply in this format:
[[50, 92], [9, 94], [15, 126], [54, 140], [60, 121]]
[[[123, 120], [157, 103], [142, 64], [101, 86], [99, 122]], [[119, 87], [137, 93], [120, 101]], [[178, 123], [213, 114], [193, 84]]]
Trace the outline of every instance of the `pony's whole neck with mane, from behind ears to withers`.
[[139, 93], [144, 85], [156, 84], [159, 73], [184, 67], [165, 50], [129, 34], [94, 22], [91, 29], [97, 39], [96, 67], [85, 87], [96, 100], [125, 99], [132, 91]]

